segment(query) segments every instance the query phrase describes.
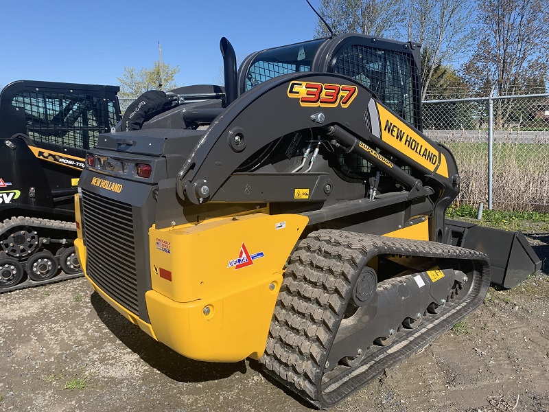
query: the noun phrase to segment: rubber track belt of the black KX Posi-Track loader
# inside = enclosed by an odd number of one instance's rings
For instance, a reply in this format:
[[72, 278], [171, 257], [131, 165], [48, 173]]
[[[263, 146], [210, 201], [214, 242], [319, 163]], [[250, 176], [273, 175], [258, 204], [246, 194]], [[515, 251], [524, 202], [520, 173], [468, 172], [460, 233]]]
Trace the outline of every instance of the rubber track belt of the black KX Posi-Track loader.
[[[6, 219], [0, 223], [0, 236], [3, 233], [9, 231], [13, 227], [26, 226], [26, 227], [38, 227], [44, 229], [56, 229], [60, 231], [76, 231], [76, 224], [74, 222], [65, 222], [63, 220], [51, 220], [51, 219], [39, 219], [39, 218], [27, 218], [23, 216], [13, 217], [11, 219]], [[23, 266], [24, 267], [24, 266]], [[12, 292], [13, 290], [32, 288], [34, 286], [42, 286], [47, 284], [53, 284], [57, 282], [62, 282], [67, 279], [74, 279], [75, 277], [82, 277], [84, 273], [75, 273], [74, 275], [67, 275], [65, 272], [59, 273], [59, 275], [52, 277], [51, 279], [44, 280], [42, 282], [34, 282], [32, 279], [25, 280], [20, 284], [10, 286], [9, 288], [0, 288], [1, 293]]]

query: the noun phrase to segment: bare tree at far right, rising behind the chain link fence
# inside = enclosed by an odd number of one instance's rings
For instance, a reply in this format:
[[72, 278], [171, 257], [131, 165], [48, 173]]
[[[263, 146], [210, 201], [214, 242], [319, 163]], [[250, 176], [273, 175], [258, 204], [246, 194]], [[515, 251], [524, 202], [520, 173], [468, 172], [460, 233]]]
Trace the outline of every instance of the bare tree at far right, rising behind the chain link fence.
[[[484, 37], [462, 67], [465, 79], [481, 93], [544, 93], [549, 69], [546, 2], [480, 0], [478, 7]], [[496, 127], [502, 127], [513, 111], [512, 102], [498, 100], [494, 111]]]

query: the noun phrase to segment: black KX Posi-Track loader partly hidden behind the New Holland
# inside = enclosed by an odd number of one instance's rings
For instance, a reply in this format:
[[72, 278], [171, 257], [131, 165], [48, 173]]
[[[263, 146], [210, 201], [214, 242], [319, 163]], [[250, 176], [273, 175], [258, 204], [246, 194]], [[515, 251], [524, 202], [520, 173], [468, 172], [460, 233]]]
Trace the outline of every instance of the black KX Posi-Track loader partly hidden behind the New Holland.
[[118, 91], [30, 80], [1, 91], [0, 293], [82, 275], [73, 198], [86, 150], [120, 119]]

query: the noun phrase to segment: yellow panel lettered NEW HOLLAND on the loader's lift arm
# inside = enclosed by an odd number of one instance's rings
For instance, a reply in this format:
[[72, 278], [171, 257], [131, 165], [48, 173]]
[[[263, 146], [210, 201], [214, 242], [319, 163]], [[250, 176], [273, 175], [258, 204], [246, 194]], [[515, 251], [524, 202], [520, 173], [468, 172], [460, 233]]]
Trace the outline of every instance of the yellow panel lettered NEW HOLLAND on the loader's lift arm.
[[428, 141], [379, 103], [377, 103], [377, 111], [379, 112], [383, 141], [431, 172], [434, 172], [440, 161], [436, 173], [448, 177], [446, 159], [438, 148], [434, 148]]

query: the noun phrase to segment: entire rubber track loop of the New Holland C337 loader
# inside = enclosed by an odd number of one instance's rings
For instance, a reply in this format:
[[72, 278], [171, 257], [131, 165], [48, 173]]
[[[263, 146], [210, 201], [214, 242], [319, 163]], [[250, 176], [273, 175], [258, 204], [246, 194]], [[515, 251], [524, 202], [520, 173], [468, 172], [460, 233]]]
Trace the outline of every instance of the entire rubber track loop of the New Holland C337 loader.
[[[480, 279], [474, 279], [469, 293], [453, 309], [424, 321], [335, 380], [321, 383], [353, 284], [362, 266], [375, 255], [474, 260], [482, 269]], [[268, 374], [316, 407], [331, 407], [452, 328], [482, 303], [489, 283], [487, 257], [478, 251], [421, 240], [315, 231], [299, 243], [290, 258], [261, 363]]]

